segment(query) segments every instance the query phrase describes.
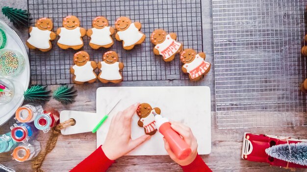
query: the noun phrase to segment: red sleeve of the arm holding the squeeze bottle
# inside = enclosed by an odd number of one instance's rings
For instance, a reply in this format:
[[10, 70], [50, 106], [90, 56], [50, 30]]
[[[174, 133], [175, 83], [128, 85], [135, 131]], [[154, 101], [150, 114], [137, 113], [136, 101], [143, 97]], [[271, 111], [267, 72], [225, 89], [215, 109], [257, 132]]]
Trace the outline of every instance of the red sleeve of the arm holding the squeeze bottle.
[[181, 168], [183, 172], [212, 172], [200, 155], [197, 155], [191, 164]]

